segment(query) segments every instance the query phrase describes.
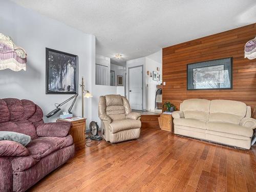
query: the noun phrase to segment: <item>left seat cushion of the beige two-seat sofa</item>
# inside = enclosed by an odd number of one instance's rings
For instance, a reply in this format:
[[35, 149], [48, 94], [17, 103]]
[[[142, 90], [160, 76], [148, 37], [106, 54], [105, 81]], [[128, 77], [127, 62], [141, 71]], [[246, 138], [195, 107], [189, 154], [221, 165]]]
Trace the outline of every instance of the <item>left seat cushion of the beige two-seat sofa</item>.
[[174, 119], [175, 125], [195, 127], [197, 129], [206, 130], [206, 121], [200, 119]]

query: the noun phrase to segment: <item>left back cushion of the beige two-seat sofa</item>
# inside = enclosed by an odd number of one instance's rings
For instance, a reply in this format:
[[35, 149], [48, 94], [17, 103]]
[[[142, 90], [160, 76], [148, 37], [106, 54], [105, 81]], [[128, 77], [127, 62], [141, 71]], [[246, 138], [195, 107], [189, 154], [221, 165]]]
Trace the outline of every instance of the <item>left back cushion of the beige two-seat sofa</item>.
[[180, 111], [188, 119], [209, 119], [210, 101], [207, 99], [186, 99], [181, 104]]

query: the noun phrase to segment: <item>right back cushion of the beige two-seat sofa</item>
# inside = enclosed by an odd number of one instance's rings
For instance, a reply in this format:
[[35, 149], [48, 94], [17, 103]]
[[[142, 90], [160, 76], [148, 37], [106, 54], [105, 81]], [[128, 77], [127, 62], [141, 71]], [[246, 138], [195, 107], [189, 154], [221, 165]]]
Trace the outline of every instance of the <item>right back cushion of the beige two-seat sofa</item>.
[[209, 121], [239, 124], [246, 111], [246, 104], [240, 101], [211, 100]]

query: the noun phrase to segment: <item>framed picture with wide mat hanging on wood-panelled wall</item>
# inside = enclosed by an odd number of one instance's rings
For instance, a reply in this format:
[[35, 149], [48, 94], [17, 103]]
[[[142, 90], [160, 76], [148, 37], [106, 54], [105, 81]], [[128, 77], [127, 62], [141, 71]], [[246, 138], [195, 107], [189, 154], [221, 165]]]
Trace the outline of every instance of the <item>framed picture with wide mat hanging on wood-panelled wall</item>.
[[187, 65], [187, 90], [232, 89], [232, 57]]

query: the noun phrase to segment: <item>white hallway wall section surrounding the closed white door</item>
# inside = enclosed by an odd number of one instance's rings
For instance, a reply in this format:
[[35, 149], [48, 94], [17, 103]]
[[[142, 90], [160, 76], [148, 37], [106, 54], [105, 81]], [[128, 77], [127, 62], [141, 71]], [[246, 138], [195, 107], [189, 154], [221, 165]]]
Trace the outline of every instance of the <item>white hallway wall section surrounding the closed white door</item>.
[[143, 66], [143, 109], [146, 110], [146, 86], [145, 86], [145, 57], [126, 61], [126, 98], [129, 99], [129, 68]]

